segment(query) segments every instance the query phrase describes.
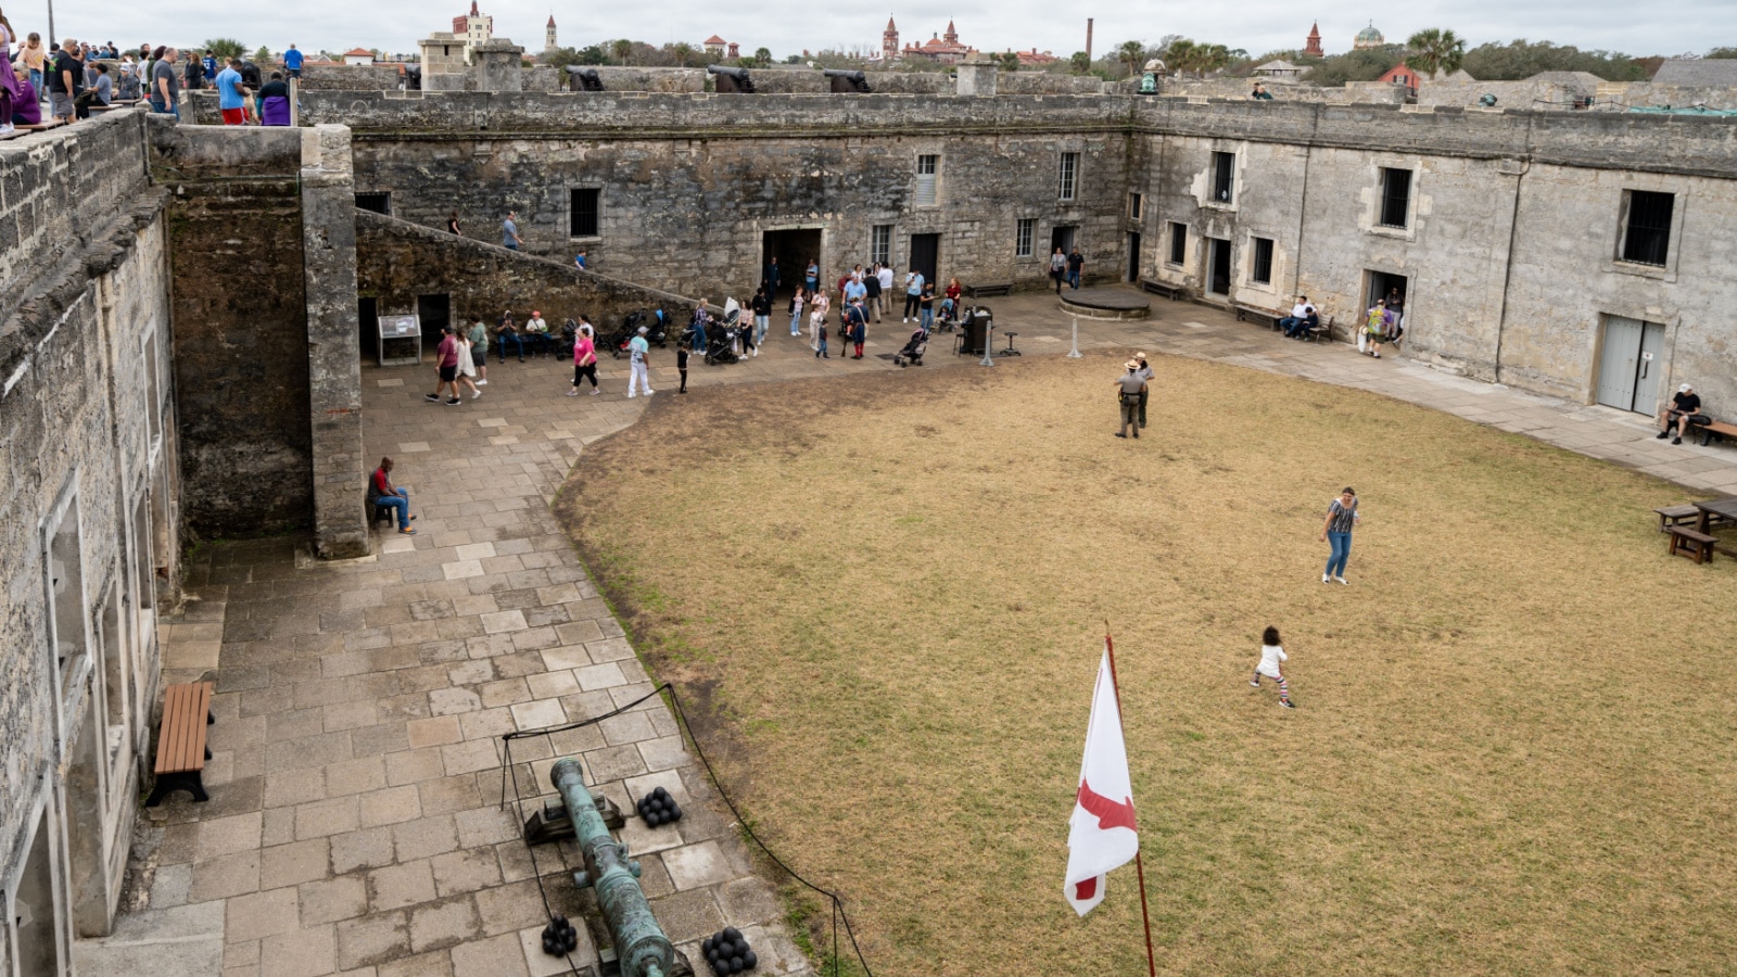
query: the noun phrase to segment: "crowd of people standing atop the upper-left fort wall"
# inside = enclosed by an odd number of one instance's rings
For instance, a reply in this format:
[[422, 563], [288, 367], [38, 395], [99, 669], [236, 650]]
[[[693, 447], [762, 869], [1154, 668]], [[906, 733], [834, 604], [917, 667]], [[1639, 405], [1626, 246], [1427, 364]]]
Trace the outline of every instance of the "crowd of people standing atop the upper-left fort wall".
[[[292, 43], [281, 71], [269, 78], [245, 57], [181, 52], [168, 45], [120, 50], [115, 42], [23, 38], [0, 14], [0, 136], [19, 125], [71, 123], [115, 103], [148, 103], [151, 111], [181, 118], [181, 92], [215, 89], [224, 125], [288, 125], [288, 78], [302, 73], [302, 52]], [[47, 103], [47, 108], [43, 106]]]

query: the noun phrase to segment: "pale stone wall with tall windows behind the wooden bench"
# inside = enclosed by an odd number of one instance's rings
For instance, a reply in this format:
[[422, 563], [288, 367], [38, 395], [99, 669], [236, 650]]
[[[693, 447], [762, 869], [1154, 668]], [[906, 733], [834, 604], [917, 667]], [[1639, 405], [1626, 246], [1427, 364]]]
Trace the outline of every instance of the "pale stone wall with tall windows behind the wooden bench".
[[165, 195], [142, 113], [0, 144], [0, 942], [120, 899], [179, 577]]

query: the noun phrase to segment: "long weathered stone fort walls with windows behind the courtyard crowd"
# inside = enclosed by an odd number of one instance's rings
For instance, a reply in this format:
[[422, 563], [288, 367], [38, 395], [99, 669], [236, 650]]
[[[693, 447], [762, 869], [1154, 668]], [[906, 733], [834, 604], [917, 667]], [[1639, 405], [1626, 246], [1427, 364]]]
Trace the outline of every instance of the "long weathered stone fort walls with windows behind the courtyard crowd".
[[[459, 210], [483, 236], [516, 209], [532, 252], [570, 259], [585, 245], [599, 269], [688, 296], [752, 290], [764, 235], [780, 229], [820, 231], [823, 276], [870, 261], [875, 228], [889, 228], [896, 268], [912, 235], [935, 233], [943, 280], [1035, 289], [1060, 228], [1093, 280], [1133, 269], [1200, 301], [1275, 311], [1303, 290], [1341, 327], [1370, 304], [1376, 275], [1403, 276], [1407, 355], [1588, 402], [1603, 316], [1657, 322], [1674, 351], [1661, 389], [1688, 379], [1714, 410], [1737, 412], [1737, 370], [1716, 339], [1718, 309], [1737, 299], [1718, 273], [1737, 210], [1732, 120], [646, 92], [307, 92], [304, 110], [354, 127], [358, 188], [389, 191], [398, 217], [441, 226]], [[1212, 153], [1235, 160], [1228, 203], [1207, 188]], [[933, 203], [919, 186], [922, 156], [936, 158]], [[1075, 167], [1072, 200], [1065, 165]], [[1412, 174], [1403, 228], [1379, 221], [1384, 169]], [[575, 189], [599, 195], [596, 236], [571, 233]], [[1673, 193], [1678, 216], [1690, 214], [1664, 275], [1615, 259], [1636, 189]], [[1181, 261], [1171, 261], [1174, 224]], [[1232, 252], [1219, 290], [1207, 268], [1214, 240]], [[1258, 240], [1271, 242], [1270, 271], [1256, 268]]]

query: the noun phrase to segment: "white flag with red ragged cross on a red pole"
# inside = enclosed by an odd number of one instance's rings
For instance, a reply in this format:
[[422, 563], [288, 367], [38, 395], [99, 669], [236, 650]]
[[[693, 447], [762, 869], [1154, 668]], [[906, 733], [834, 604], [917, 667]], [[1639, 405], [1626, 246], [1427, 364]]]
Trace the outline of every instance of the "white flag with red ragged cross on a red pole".
[[1122, 708], [1110, 671], [1110, 648], [1098, 662], [1098, 687], [1086, 725], [1086, 760], [1068, 821], [1068, 874], [1063, 892], [1084, 916], [1103, 902], [1105, 874], [1134, 861], [1139, 831], [1134, 826], [1134, 788], [1127, 779], [1127, 744]]

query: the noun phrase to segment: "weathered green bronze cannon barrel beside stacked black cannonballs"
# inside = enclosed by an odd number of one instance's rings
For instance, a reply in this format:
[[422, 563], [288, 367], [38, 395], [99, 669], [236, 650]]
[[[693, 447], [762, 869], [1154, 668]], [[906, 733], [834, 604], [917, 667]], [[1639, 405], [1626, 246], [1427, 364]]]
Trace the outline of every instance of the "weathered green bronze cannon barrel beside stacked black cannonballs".
[[651, 904], [639, 888], [639, 864], [627, 861], [627, 852], [610, 836], [598, 814], [598, 805], [585, 789], [585, 775], [578, 760], [556, 760], [549, 772], [554, 789], [566, 801], [573, 819], [578, 850], [585, 855], [585, 871], [573, 873], [573, 883], [598, 892], [603, 921], [615, 939], [615, 954], [625, 977], [665, 977], [670, 972], [676, 947], [651, 914]]

